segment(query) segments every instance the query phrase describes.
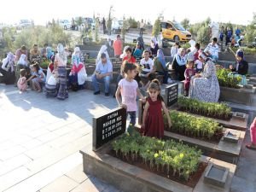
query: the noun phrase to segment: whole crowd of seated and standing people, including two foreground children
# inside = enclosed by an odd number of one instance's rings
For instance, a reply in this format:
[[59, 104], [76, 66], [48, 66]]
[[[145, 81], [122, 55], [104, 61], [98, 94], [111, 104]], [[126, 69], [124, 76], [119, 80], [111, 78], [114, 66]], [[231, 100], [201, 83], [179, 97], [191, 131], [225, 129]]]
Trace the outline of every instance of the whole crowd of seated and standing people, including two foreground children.
[[[203, 102], [218, 102], [219, 84], [216, 74], [215, 61], [218, 60], [217, 38], [202, 50], [200, 44], [189, 42], [189, 49], [183, 49], [175, 43], [171, 49], [171, 66], [177, 80], [184, 80], [185, 96]], [[113, 44], [103, 44], [96, 57], [96, 70], [92, 75], [94, 94], [100, 94], [99, 83], [104, 84], [105, 96], [110, 95], [110, 84], [113, 79], [113, 64], [109, 56], [109, 46], [112, 46], [113, 55], [122, 61], [117, 79], [114, 96], [121, 107], [127, 109], [131, 117], [131, 124], [135, 125], [137, 111], [137, 96], [146, 102], [143, 114], [143, 135], [150, 137], [163, 137], [163, 119], [160, 118], [161, 110], [166, 112], [166, 106], [160, 96], [160, 81], [168, 84], [169, 64], [163, 49], [160, 49], [155, 38], [151, 39], [150, 47], [145, 48], [143, 38], [137, 38], [134, 48], [125, 46], [118, 35]], [[64, 100], [68, 97], [68, 89], [83, 89], [87, 77], [84, 67], [84, 57], [79, 47], [74, 48], [70, 55], [62, 44], [58, 44], [56, 52], [44, 44], [39, 50], [34, 44], [28, 51], [26, 46], [16, 50], [15, 55], [8, 53], [3, 59], [0, 72], [3, 74], [4, 83], [14, 84], [22, 92], [27, 90], [28, 84], [32, 90], [41, 92], [44, 88], [46, 96], [55, 96]], [[67, 75], [67, 56], [71, 57], [71, 72]], [[38, 58], [49, 61], [47, 73], [39, 65]], [[241, 49], [236, 52], [236, 64], [230, 65], [230, 71], [241, 75], [247, 73], [248, 64], [244, 60]], [[233, 74], [234, 75], [234, 74]], [[141, 89], [148, 91], [148, 98], [144, 99]], [[168, 116], [168, 115], [167, 115]], [[171, 119], [168, 119], [171, 125]], [[154, 127], [160, 127], [155, 130]]]

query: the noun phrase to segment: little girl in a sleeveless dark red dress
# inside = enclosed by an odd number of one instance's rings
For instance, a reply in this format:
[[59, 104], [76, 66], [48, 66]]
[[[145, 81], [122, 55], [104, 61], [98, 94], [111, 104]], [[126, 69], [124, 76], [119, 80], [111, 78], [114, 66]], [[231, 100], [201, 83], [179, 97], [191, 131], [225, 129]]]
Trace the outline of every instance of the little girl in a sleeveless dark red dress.
[[160, 96], [160, 82], [154, 79], [148, 86], [149, 96], [143, 112], [143, 136], [164, 137], [164, 119], [162, 109], [168, 118], [168, 125], [171, 127], [171, 119], [166, 108], [163, 97]]

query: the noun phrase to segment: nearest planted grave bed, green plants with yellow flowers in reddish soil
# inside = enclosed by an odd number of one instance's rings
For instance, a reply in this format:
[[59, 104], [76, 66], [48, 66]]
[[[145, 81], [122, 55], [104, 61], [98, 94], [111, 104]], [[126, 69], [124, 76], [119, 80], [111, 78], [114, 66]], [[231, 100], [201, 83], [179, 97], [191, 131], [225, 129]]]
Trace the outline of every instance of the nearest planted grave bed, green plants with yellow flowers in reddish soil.
[[194, 188], [207, 163], [200, 162], [201, 151], [172, 140], [124, 134], [112, 143], [109, 154], [131, 165]]

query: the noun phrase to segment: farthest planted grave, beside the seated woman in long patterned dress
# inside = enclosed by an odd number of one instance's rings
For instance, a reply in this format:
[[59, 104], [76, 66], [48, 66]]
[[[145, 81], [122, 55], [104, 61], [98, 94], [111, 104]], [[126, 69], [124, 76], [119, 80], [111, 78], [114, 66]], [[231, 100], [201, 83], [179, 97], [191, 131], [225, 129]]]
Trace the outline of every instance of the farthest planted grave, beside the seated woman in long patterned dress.
[[[201, 115], [214, 119], [219, 125], [235, 130], [246, 131], [248, 115], [246, 113], [231, 112], [226, 103], [201, 102], [188, 97], [178, 97], [177, 111], [191, 113], [195, 116]], [[240, 116], [241, 117], [240, 117]]]

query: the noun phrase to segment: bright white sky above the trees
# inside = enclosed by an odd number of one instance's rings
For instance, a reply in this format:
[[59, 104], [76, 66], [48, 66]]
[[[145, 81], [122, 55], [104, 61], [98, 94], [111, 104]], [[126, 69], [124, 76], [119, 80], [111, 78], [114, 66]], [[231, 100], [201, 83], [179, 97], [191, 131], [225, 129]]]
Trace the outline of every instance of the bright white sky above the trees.
[[[152, 0], [3, 0], [1, 1], [0, 23], [14, 24], [20, 19], [34, 20], [36, 25], [44, 25], [47, 20], [67, 19], [84, 16], [108, 17], [108, 11], [113, 5], [113, 17], [121, 19], [134, 17], [136, 20], [154, 20], [160, 13], [163, 13], [165, 20], [181, 21], [189, 18], [190, 23], [199, 22], [210, 17], [217, 22], [231, 22], [247, 25], [256, 12], [256, 3], [252, 0], [236, 1], [214, 0], [214, 1], [171, 1], [159, 0], [152, 5]], [[238, 1], [237, 1], [238, 2]], [[213, 4], [214, 3], [214, 4]], [[227, 9], [228, 8], [228, 9]]]

